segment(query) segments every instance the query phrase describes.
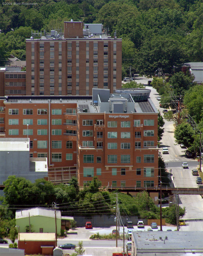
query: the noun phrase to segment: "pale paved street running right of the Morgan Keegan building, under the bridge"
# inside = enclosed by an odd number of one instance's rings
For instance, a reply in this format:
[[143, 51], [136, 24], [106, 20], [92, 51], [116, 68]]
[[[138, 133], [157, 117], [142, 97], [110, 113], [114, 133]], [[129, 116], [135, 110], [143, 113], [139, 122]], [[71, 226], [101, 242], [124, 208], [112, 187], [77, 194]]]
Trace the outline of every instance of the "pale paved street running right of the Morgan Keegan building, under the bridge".
[[[146, 87], [151, 89], [151, 99], [154, 102], [157, 109], [162, 113], [162, 108], [159, 106], [159, 101], [156, 99], [157, 92], [152, 87]], [[196, 169], [198, 166], [197, 160], [189, 159], [185, 157], [185, 149], [182, 149], [180, 145], [175, 143], [174, 139], [174, 124], [173, 122], [165, 121], [164, 135], [161, 140], [161, 147], [168, 147], [169, 154], [162, 155], [168, 170], [172, 169], [172, 177], [174, 177], [175, 187], [197, 187], [196, 176], [191, 173], [192, 169]], [[182, 168], [182, 162], [187, 162], [188, 169]], [[180, 206], [186, 207], [185, 219], [203, 218], [203, 199], [200, 195], [180, 195]], [[188, 222], [186, 226], [182, 226], [180, 230], [183, 231], [203, 231], [203, 221]]]

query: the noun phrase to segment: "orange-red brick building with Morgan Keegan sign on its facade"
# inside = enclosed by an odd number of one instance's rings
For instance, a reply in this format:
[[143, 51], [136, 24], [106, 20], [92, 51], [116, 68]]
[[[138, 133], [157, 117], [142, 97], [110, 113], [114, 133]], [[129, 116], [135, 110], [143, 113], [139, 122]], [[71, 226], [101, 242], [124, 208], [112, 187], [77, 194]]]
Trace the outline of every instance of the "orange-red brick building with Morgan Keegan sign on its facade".
[[75, 166], [80, 186], [95, 175], [103, 186], [157, 186], [158, 111], [150, 92], [8, 96], [5, 136], [28, 136], [30, 157], [47, 157], [49, 167]]

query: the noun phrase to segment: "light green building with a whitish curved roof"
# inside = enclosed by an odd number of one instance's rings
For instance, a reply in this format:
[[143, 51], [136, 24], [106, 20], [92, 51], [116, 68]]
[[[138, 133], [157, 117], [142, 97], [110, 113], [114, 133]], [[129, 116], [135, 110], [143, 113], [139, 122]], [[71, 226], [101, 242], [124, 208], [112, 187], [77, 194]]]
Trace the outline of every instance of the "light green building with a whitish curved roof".
[[[26, 228], [34, 233], [55, 233], [55, 210], [35, 207], [17, 210], [15, 214], [16, 226], [19, 232], [25, 233]], [[56, 210], [57, 234], [61, 233], [61, 211]], [[27, 226], [27, 227], [26, 227]], [[28, 231], [29, 232], [29, 231]]]

